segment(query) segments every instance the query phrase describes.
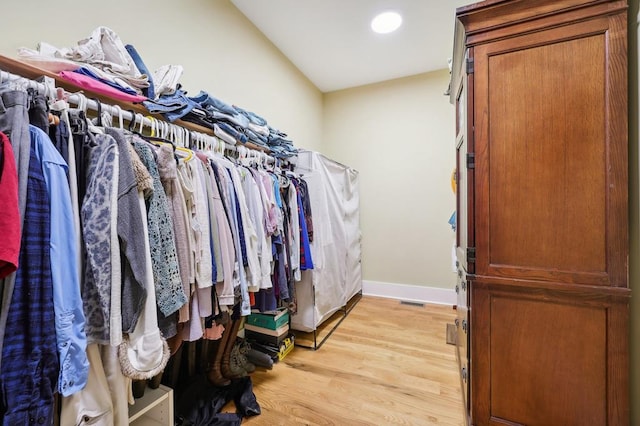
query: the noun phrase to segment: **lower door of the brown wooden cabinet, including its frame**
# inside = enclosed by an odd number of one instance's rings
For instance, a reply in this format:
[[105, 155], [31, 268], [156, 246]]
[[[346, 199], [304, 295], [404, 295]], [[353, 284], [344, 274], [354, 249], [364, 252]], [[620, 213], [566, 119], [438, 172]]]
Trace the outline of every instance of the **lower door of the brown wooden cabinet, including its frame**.
[[623, 424], [626, 296], [475, 282], [476, 424]]

